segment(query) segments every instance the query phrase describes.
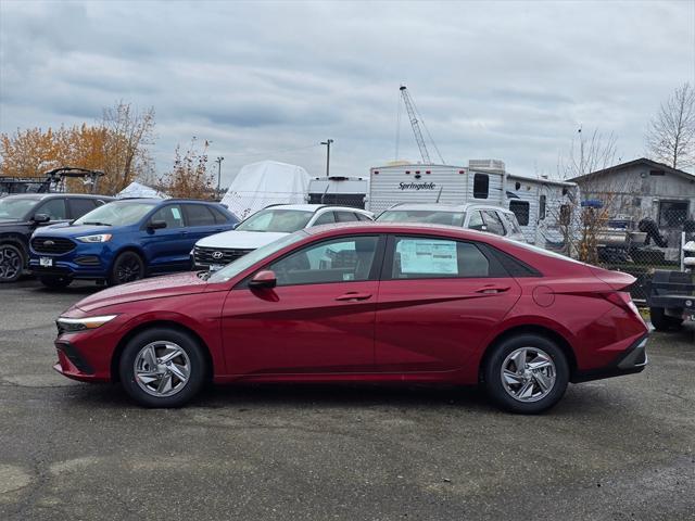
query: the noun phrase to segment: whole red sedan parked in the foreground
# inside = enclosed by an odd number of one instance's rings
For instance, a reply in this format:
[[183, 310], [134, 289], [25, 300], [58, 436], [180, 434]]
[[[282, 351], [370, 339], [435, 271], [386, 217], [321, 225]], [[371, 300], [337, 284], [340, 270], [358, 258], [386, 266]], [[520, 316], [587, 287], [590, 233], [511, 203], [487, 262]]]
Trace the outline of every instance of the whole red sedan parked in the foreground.
[[55, 369], [175, 407], [213, 380], [478, 384], [539, 412], [568, 382], [640, 372], [634, 279], [495, 236], [427, 225], [302, 230], [219, 271], [84, 298]]

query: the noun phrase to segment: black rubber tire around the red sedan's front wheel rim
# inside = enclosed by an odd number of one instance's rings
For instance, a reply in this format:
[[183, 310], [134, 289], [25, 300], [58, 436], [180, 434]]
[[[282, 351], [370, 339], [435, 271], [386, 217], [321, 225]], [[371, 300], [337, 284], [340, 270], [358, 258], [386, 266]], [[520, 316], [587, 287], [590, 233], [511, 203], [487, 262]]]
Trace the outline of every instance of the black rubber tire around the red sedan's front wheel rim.
[[[186, 353], [188, 360], [185, 361], [189, 364], [188, 380], [175, 394], [153, 395], [142, 387], [143, 385], [147, 386], [147, 382], [142, 379], [139, 380], [140, 383], [136, 381], [136, 359], [142, 359], [140, 353], [151, 344], [155, 344], [154, 348], [157, 356], [160, 353], [165, 354], [164, 347], [157, 347], [160, 343], [165, 342], [169, 345], [175, 344]], [[182, 358], [181, 356], [174, 360], [178, 359], [180, 363]], [[199, 342], [189, 333], [168, 328], [152, 328], [138, 333], [128, 342], [118, 363], [118, 374], [123, 389], [128, 396], [144, 407], [170, 408], [185, 405], [205, 384], [207, 370], [206, 357]], [[175, 386], [176, 377], [172, 378], [174, 383], [170, 381], [170, 384]], [[152, 382], [151, 384], [156, 385], [157, 382]]]

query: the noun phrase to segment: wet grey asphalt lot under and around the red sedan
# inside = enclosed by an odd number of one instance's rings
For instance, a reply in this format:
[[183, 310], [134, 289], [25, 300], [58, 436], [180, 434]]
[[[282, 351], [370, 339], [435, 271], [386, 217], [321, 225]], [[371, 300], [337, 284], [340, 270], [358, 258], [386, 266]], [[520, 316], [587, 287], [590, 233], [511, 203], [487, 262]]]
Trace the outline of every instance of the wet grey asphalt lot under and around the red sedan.
[[51, 370], [92, 285], [0, 287], [0, 519], [695, 519], [695, 328], [551, 414], [473, 390], [216, 389], [144, 410]]

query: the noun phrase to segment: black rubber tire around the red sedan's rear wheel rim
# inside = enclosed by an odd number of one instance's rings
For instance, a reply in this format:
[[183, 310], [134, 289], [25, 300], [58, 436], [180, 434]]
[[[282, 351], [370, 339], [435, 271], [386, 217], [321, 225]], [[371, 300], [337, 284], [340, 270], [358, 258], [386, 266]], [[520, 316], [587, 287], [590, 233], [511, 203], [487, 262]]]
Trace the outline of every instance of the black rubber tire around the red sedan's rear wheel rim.
[[[553, 385], [548, 386], [547, 394], [540, 395], [541, 397], [533, 402], [514, 397], [506, 390], [502, 377], [502, 366], [507, 360], [507, 357], [523, 347], [543, 352], [554, 365], [555, 381]], [[529, 353], [533, 353], [533, 351]], [[547, 371], [549, 368], [545, 370]], [[535, 389], [538, 385], [534, 383], [535, 377], [530, 378], [532, 380], [532, 389]], [[523, 333], [510, 336], [493, 347], [483, 367], [483, 380], [488, 395], [498, 407], [511, 412], [535, 415], [549, 409], [563, 397], [569, 382], [569, 366], [565, 353], [555, 342], [539, 334]], [[541, 387], [539, 386], [538, 389], [540, 390]]]

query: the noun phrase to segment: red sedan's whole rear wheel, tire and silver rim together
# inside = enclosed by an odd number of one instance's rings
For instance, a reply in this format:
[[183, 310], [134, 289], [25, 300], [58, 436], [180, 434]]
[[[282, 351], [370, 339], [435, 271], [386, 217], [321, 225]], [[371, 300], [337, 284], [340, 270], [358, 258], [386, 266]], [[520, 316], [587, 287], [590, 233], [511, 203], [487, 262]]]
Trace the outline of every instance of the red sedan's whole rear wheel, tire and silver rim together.
[[569, 367], [554, 342], [538, 334], [520, 334], [494, 347], [483, 376], [488, 394], [500, 407], [538, 414], [563, 397]]

